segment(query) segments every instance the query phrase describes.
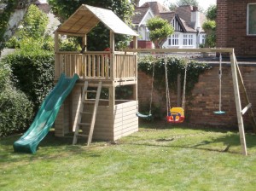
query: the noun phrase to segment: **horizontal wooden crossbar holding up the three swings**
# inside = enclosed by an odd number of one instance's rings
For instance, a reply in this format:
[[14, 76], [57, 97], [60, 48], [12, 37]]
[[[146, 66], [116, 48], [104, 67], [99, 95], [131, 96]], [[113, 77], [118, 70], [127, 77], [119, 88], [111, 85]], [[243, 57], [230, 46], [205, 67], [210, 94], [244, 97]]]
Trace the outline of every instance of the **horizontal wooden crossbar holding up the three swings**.
[[230, 53], [232, 54], [234, 52], [234, 49], [232, 48], [216, 48], [216, 49], [210, 49], [210, 48], [202, 48], [202, 49], [125, 49], [125, 52], [154, 52], [154, 53]]

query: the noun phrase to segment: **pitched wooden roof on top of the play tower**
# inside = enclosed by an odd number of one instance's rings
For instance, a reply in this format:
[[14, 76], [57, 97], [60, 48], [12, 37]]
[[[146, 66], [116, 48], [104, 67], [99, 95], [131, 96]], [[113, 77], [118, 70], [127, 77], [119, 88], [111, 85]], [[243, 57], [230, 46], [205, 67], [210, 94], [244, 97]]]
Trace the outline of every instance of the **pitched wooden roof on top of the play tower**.
[[108, 9], [96, 8], [82, 4], [79, 9], [66, 20], [56, 32], [84, 36], [102, 22], [110, 31], [119, 34], [138, 36], [124, 21]]

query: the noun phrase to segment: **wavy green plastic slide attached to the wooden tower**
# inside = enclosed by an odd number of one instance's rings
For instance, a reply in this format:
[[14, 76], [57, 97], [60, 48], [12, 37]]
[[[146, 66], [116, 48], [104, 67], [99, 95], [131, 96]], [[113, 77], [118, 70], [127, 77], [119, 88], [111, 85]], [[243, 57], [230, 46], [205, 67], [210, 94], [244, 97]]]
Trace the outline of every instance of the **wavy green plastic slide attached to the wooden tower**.
[[15, 152], [36, 153], [39, 142], [48, 134], [50, 127], [55, 122], [62, 102], [73, 90], [73, 86], [78, 79], [79, 76], [77, 74], [74, 74], [73, 78], [66, 78], [64, 73], [61, 74], [59, 82], [46, 96], [30, 128], [14, 143]]

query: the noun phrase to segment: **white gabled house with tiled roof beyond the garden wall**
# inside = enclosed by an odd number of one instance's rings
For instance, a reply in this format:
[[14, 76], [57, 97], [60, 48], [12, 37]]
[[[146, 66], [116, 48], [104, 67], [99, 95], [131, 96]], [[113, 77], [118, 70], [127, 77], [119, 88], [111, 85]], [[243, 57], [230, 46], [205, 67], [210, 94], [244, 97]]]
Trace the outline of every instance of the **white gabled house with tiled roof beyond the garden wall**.
[[154, 16], [168, 20], [175, 30], [174, 34], [166, 39], [163, 48], [191, 49], [205, 43], [206, 33], [202, 30], [201, 24], [206, 20], [206, 17], [196, 7], [181, 6], [175, 11], [170, 11], [158, 2], [148, 2], [137, 7], [132, 18], [134, 29], [140, 35], [138, 47], [150, 48], [148, 46], [149, 31], [146, 23]]

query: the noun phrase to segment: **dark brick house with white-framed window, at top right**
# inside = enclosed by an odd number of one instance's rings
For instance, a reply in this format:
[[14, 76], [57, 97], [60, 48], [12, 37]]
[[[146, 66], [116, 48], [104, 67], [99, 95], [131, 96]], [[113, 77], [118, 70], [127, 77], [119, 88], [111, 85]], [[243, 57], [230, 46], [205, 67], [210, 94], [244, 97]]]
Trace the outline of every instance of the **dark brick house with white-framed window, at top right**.
[[256, 0], [217, 0], [217, 47], [256, 57]]

